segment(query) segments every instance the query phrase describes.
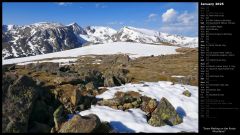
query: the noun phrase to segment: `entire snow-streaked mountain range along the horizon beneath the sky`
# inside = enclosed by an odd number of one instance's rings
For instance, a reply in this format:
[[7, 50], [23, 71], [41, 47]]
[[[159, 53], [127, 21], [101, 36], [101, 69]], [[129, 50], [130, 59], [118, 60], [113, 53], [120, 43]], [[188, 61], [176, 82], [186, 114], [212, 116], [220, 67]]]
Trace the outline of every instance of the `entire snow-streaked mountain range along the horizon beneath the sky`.
[[2, 57], [8, 59], [33, 56], [88, 44], [119, 41], [180, 47], [197, 47], [198, 45], [197, 38], [170, 35], [142, 28], [123, 27], [116, 31], [103, 26], [82, 28], [77, 23], [65, 26], [59, 23], [40, 22], [24, 26], [3, 25]]

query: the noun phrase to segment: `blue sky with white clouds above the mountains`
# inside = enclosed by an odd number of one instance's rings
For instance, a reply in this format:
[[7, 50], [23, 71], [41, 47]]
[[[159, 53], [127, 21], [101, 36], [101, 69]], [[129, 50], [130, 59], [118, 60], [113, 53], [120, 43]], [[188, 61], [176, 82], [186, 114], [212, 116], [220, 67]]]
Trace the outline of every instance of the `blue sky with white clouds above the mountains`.
[[78, 23], [82, 27], [123, 26], [153, 29], [171, 34], [197, 36], [197, 3], [190, 2], [4, 2], [3, 24], [36, 22]]

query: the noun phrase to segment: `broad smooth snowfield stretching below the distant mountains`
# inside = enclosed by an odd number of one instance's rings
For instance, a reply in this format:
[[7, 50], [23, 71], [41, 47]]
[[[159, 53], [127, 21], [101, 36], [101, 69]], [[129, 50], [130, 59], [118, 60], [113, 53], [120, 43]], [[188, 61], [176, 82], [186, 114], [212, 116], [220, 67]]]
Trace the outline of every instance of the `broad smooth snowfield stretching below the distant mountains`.
[[81, 55], [111, 55], [111, 54], [128, 54], [131, 58], [150, 56], [150, 55], [167, 55], [176, 54], [176, 46], [166, 45], [150, 45], [131, 42], [114, 42], [98, 45], [84, 46], [76, 49], [48, 53], [36, 56], [22, 57], [6, 59], [2, 58], [2, 65], [16, 64], [23, 62], [30, 62], [49, 58], [61, 58], [61, 57], [77, 57]]

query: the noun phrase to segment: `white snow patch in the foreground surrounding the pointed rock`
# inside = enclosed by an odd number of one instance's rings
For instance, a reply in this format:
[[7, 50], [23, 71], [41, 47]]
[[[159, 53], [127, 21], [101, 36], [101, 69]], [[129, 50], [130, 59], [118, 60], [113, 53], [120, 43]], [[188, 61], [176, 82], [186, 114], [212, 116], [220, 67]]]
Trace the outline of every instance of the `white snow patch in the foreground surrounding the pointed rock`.
[[[145, 82], [144, 84], [129, 83], [118, 87], [110, 87], [107, 91], [98, 95], [97, 98], [111, 99], [117, 91], [136, 91], [158, 101], [165, 97], [183, 118], [183, 123], [175, 126], [153, 127], [147, 123], [145, 112], [140, 109], [122, 111], [98, 105], [92, 105], [91, 109], [79, 114], [96, 114], [101, 121], [108, 121], [118, 132], [198, 132], [198, 87], [181, 84], [172, 85], [172, 82], [167, 81]], [[185, 90], [189, 90], [192, 96], [184, 96], [182, 92]]]

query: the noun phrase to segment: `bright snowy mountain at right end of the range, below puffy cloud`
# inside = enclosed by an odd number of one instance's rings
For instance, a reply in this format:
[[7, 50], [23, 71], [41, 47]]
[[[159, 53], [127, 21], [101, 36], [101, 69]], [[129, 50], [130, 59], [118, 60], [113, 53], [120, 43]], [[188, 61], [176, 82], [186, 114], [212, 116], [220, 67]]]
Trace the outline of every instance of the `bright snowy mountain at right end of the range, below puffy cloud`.
[[113, 41], [129, 41], [149, 44], [167, 44], [180, 47], [197, 47], [198, 38], [196, 37], [184, 37], [180, 35], [171, 35], [158, 31], [123, 27], [115, 35], [113, 35]]

